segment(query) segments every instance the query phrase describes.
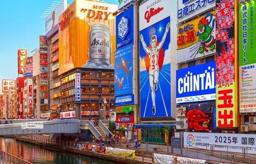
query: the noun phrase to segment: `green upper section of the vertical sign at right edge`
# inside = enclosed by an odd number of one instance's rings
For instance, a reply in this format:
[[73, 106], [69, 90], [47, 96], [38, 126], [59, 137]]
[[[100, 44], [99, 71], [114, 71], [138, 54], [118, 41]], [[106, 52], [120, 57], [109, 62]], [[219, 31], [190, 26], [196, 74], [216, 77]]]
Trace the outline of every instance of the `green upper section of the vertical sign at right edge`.
[[256, 63], [256, 0], [239, 5], [239, 66]]

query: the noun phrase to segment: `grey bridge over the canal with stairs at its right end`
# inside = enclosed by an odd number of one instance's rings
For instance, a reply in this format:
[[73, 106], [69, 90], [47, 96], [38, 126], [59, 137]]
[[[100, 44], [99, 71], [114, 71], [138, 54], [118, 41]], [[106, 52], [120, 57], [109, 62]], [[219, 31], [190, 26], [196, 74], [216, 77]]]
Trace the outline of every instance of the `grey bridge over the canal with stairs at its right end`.
[[[94, 127], [93, 121], [79, 119], [0, 119], [0, 135], [31, 135], [31, 134], [78, 134], [83, 130], [90, 130], [98, 139], [100, 136], [112, 134], [106, 127], [109, 120], [100, 120]], [[12, 122], [12, 123], [11, 123]], [[27, 126], [27, 125], [38, 125]], [[112, 134], [113, 135], [113, 134]]]

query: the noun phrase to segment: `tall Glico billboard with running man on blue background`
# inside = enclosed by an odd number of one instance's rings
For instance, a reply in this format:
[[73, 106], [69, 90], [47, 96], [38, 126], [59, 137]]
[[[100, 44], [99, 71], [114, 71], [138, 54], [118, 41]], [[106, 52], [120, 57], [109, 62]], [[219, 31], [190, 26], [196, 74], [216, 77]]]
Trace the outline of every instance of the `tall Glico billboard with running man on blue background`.
[[169, 0], [140, 6], [141, 118], [171, 116], [170, 26]]

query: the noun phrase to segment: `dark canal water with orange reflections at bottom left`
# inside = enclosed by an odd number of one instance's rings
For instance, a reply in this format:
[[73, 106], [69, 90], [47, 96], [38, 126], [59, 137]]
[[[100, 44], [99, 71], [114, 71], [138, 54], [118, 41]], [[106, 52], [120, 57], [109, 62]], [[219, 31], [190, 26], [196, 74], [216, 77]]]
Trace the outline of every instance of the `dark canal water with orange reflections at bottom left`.
[[115, 164], [97, 158], [44, 149], [8, 137], [0, 137], [0, 149], [32, 164]]

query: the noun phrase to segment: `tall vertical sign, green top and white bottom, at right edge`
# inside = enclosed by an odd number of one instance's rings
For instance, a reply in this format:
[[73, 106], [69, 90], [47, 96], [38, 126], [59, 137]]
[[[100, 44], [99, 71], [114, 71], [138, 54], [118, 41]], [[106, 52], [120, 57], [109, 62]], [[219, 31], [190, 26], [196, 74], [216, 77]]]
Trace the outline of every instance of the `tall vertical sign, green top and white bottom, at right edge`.
[[256, 1], [239, 5], [240, 112], [256, 112]]

